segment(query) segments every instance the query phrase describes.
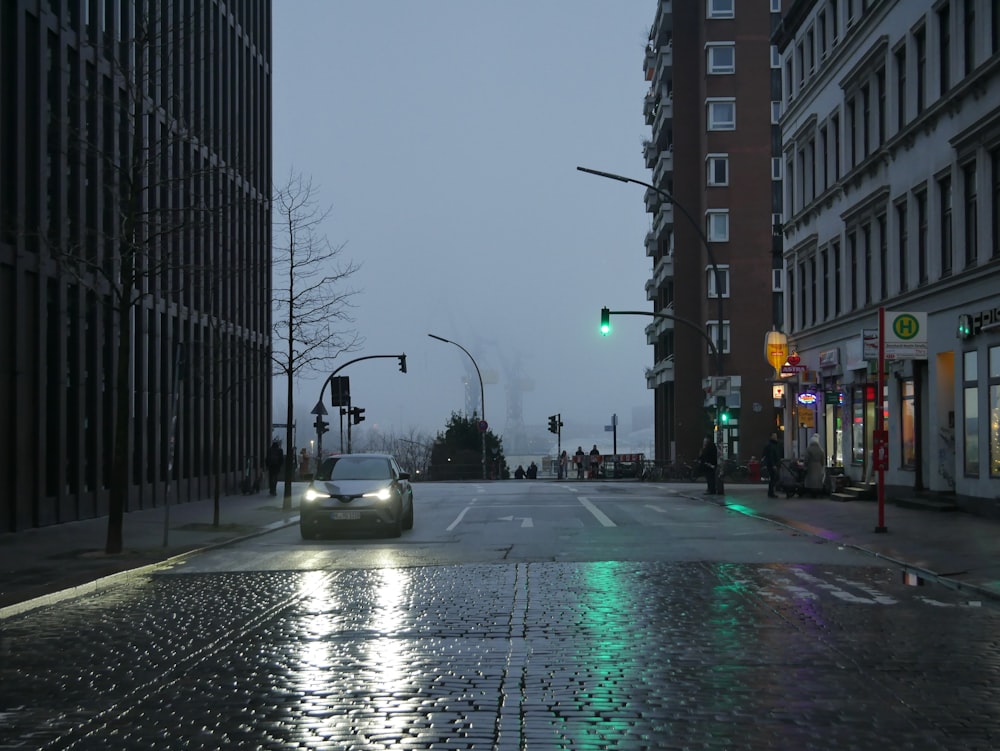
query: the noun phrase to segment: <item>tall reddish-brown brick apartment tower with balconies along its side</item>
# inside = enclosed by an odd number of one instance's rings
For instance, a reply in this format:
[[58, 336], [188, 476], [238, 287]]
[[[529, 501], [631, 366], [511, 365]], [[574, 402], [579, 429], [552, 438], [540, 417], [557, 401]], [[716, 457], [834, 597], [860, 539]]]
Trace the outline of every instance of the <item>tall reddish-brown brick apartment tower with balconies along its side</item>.
[[[673, 199], [646, 192], [646, 294], [654, 313], [671, 316], [646, 329], [659, 461], [697, 456], [719, 396], [729, 416], [718, 436], [726, 456], [759, 457], [781, 430], [764, 356], [782, 310], [781, 244], [772, 239], [782, 195], [774, 169], [781, 68], [769, 41], [780, 11], [777, 0], [657, 3], [643, 65], [644, 156], [651, 184]], [[722, 388], [707, 339], [721, 339]]]

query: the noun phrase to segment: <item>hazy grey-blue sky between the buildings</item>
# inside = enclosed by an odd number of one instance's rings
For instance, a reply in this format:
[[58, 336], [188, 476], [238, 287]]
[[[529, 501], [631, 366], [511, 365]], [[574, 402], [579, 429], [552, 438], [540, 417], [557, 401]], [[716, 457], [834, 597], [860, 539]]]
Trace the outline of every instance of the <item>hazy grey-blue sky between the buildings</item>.
[[[503, 436], [507, 388], [521, 419], [562, 447], [652, 453], [645, 369], [652, 259], [644, 189], [643, 50], [655, 0], [274, 0], [273, 173], [311, 178], [322, 233], [360, 265], [349, 280], [364, 338], [346, 367], [362, 428], [434, 435], [483, 374]], [[329, 373], [295, 384], [298, 443]], [[473, 380], [479, 394], [478, 380]], [[285, 415], [275, 388], [275, 421]], [[327, 404], [327, 409], [334, 412]], [[331, 418], [336, 443], [337, 420]], [[568, 444], [572, 443], [572, 446]]]

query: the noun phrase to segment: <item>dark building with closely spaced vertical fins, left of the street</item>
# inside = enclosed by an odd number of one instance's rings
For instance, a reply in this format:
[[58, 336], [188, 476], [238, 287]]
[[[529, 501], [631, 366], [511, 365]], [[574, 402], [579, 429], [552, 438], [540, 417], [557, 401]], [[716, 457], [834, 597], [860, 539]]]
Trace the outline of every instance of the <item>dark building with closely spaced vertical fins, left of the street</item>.
[[270, 0], [0, 3], [0, 532], [236, 488], [270, 191]]

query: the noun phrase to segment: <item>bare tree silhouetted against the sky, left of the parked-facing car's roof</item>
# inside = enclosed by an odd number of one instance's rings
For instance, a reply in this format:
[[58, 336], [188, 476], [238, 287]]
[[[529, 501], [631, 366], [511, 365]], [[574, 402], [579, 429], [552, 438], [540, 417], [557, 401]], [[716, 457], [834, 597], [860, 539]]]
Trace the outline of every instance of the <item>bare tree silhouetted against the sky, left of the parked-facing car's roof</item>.
[[317, 203], [318, 189], [294, 170], [274, 189], [274, 264], [271, 359], [285, 379], [286, 461], [282, 508], [292, 507], [294, 384], [305, 372], [322, 372], [331, 361], [363, 343], [350, 315], [357, 290], [345, 286], [360, 265], [344, 259], [345, 244], [331, 245], [323, 224], [332, 209]]

